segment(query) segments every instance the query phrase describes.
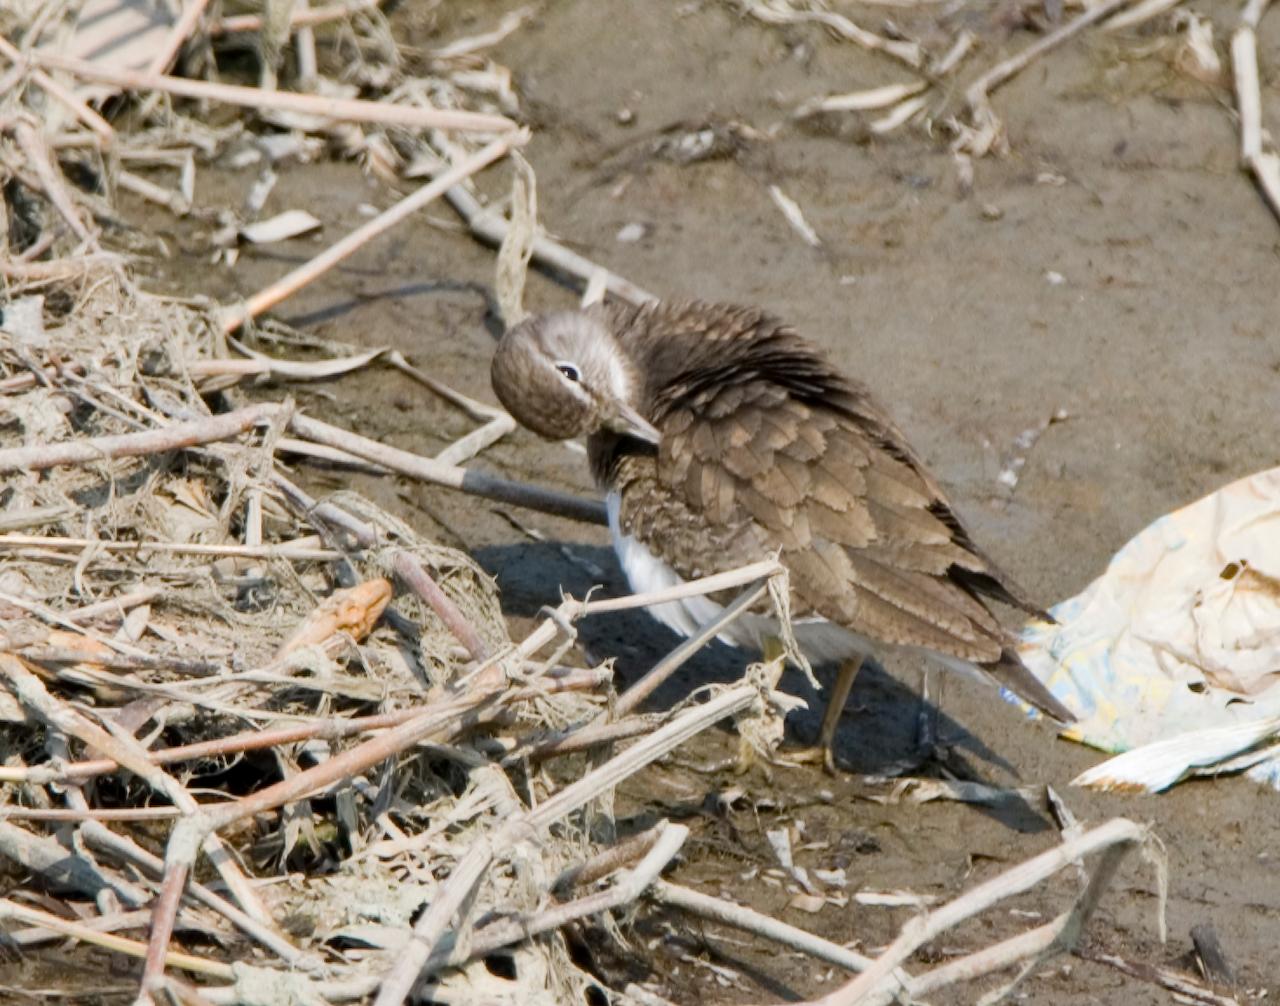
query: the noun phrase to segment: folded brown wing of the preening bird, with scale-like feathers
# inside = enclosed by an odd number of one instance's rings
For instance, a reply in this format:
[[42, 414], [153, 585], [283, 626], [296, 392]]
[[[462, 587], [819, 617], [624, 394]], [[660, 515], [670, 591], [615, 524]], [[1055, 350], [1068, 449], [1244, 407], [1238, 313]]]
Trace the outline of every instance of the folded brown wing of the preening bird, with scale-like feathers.
[[[845, 394], [849, 406], [852, 397]], [[863, 422], [859, 422], [863, 419]], [[873, 417], [764, 379], [704, 387], [662, 422], [658, 480], [709, 526], [781, 548], [797, 612], [854, 632], [993, 663], [1005, 634], [952, 568], [984, 573], [940, 497]], [[675, 557], [664, 557], [668, 562]]]

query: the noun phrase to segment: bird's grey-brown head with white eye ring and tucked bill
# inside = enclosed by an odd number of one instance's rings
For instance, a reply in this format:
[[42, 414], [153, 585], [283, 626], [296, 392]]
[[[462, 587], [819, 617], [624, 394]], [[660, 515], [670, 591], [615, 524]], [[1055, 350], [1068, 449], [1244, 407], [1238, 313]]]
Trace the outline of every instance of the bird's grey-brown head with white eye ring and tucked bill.
[[635, 366], [594, 311], [525, 319], [502, 337], [489, 378], [507, 411], [548, 440], [608, 430], [658, 443], [635, 406]]

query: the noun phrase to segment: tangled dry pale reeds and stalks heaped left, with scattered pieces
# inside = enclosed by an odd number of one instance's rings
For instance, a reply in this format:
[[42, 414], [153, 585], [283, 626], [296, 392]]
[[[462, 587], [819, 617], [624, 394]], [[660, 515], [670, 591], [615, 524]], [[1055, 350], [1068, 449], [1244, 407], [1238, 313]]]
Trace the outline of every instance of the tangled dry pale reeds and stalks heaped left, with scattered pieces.
[[[539, 228], [527, 165], [509, 219], [471, 187], [471, 175], [527, 140], [511, 74], [485, 50], [536, 9], [425, 54], [413, 76], [371, 0], [268, 5], [261, 15], [196, 0], [164, 22], [151, 59], [132, 65], [84, 58], [88, 3], [0, 12], [0, 856], [29, 874], [29, 890], [0, 900], [0, 918], [17, 947], [72, 939], [133, 956], [140, 1003], [392, 1006], [411, 994], [582, 1001], [596, 979], [570, 959], [563, 927], [646, 900], [864, 973], [832, 1002], [888, 1002], [1019, 964], [1025, 974], [1074, 946], [1119, 860], [1149, 846], [1138, 826], [1068, 836], [920, 916], [876, 959], [660, 879], [682, 826], [663, 820], [616, 841], [612, 791], [680, 744], [726, 718], [744, 759], [781, 737], [797, 704], [776, 690], [781, 658], [676, 708], [637, 712], [765, 594], [785, 618], [776, 562], [658, 595], [566, 598], [512, 641], [494, 585], [470, 557], [352, 493], [314, 499], [291, 477], [287, 458], [315, 458], [603, 521], [595, 500], [462, 467], [511, 419], [398, 353], [296, 361], [253, 348], [262, 312], [442, 196], [477, 238], [504, 244], [511, 316], [529, 261], [577, 276], [589, 301], [653, 297]], [[961, 33], [927, 64], [919, 44], [818, 5], [745, 8], [769, 23], [820, 24], [922, 73], [952, 72], [973, 46]], [[340, 58], [340, 74], [317, 60], [319, 32], [332, 35], [325, 51]], [[260, 87], [200, 76], [214, 76], [219, 40], [237, 33], [253, 36]], [[77, 45], [58, 45], [68, 38]], [[300, 91], [279, 87], [289, 46]], [[995, 86], [1011, 72], [984, 79]], [[873, 128], [888, 132], [927, 111], [932, 87], [916, 79], [824, 108], [886, 110]], [[90, 104], [106, 92], [133, 96], [128, 128]], [[252, 109], [269, 128], [255, 133], [247, 116], [209, 125], [183, 97]], [[273, 165], [326, 145], [389, 184], [429, 180], [244, 303], [151, 296], [128, 250], [104, 247], [113, 191], [209, 214], [193, 201], [196, 173], [225, 156], [264, 168], [241, 214], [209, 216], [211, 250], [230, 259], [238, 239], [280, 233], [282, 221], [256, 220]], [[69, 180], [86, 174], [96, 184]], [[774, 198], [817, 244], [796, 204], [781, 189]], [[425, 458], [241, 388], [262, 375], [324, 380], [387, 365], [480, 425]], [[564, 663], [582, 617], [724, 590], [741, 594], [622, 695], [608, 667]], [[584, 751], [585, 764], [545, 768]], [[1100, 864], [1059, 919], [942, 968], [906, 970], [946, 927], [1093, 852]], [[842, 886], [828, 873], [812, 875]], [[809, 898], [842, 904], [817, 884]], [[509, 956], [508, 977], [485, 964], [497, 951]], [[627, 994], [654, 1001], [634, 986]]]

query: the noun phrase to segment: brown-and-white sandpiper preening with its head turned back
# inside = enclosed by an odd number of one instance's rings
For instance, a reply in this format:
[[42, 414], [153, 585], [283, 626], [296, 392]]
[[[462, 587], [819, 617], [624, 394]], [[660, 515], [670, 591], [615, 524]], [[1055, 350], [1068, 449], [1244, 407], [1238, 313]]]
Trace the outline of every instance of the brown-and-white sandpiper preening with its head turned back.
[[[777, 319], [698, 302], [539, 315], [503, 337], [492, 380], [534, 433], [588, 436], [632, 590], [781, 557], [800, 649], [841, 664], [813, 749], [828, 769], [858, 668], [883, 644], [1074, 719], [983, 598], [1043, 613], [974, 545], [867, 387]], [[722, 608], [691, 598], [650, 611], [687, 636]], [[755, 614], [722, 639], [764, 649], [776, 634]]]

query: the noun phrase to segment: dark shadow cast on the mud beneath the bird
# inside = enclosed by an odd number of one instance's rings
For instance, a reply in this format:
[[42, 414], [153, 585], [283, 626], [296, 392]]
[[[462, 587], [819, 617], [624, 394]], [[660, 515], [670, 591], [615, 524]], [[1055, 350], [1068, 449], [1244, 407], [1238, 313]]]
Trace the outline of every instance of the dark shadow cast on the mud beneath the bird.
[[[580, 599], [593, 589], [598, 589], [596, 596], [630, 593], [608, 548], [538, 541], [490, 545], [476, 549], [474, 555], [497, 579], [503, 611], [508, 616], [536, 617], [545, 605], [556, 604], [562, 591]], [[590, 659], [614, 658], [618, 691], [682, 641], [644, 611], [589, 617], [577, 628], [579, 644]], [[754, 659], [758, 659], [754, 653], [713, 641], [663, 682], [646, 705], [650, 709], [671, 708], [696, 687], [736, 681], [746, 663]], [[905, 657], [893, 655], [890, 660], [895, 669], [901, 667], [908, 680], [923, 667], [923, 662]], [[815, 671], [824, 687], [829, 687], [835, 668], [819, 667]], [[788, 742], [810, 742], [817, 737], [822, 719], [823, 694], [794, 668], [783, 675], [780, 687], [808, 704], [808, 709], [787, 717]], [[902, 683], [878, 662], [868, 660], [854, 682], [836, 735], [837, 760], [858, 774], [899, 773], [904, 764], [919, 760], [920, 712], [918, 690]], [[952, 774], [991, 786], [1016, 785], [1016, 769], [997, 751], [937, 707], [931, 705], [929, 712], [937, 717], [937, 736], [948, 749], [946, 765]], [[1005, 782], [993, 782], [992, 774], [1005, 777]], [[1044, 818], [1025, 801], [1009, 800], [995, 806], [978, 805], [978, 809], [1016, 831], [1037, 832], [1048, 827]]]

